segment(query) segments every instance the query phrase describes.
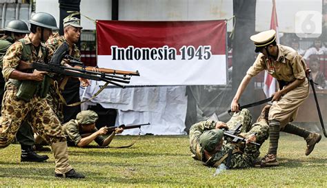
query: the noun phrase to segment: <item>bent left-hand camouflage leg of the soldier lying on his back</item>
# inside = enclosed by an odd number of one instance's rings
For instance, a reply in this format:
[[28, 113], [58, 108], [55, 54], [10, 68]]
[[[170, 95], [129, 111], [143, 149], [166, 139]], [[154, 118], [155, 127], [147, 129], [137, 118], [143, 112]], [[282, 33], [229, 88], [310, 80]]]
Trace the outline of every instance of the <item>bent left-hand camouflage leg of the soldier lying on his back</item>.
[[237, 123], [241, 123], [241, 132], [248, 132], [252, 122], [252, 116], [248, 109], [242, 109], [241, 112], [232, 115], [232, 118], [226, 123], [229, 129], [234, 129]]

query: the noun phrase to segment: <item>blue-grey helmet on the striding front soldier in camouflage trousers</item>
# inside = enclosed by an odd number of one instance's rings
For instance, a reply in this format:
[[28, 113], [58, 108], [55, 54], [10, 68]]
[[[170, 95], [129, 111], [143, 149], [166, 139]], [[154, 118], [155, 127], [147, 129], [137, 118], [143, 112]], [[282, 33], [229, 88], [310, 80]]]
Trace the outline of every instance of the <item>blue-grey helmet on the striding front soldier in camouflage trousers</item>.
[[58, 30], [56, 19], [54, 19], [51, 14], [46, 12], [37, 12], [33, 14], [28, 22], [43, 28]]

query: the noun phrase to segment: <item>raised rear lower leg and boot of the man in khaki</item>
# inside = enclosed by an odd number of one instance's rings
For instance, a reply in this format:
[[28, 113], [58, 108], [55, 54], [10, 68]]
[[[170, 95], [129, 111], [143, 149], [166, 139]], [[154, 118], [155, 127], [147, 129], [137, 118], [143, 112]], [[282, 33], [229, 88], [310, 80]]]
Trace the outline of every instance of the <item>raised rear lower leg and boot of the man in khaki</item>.
[[284, 128], [281, 129], [282, 132], [287, 132], [289, 134], [295, 134], [301, 136], [306, 140], [306, 156], [313, 152], [315, 145], [321, 140], [321, 135], [315, 132], [308, 132], [306, 129], [297, 127], [293, 123], [288, 123]]

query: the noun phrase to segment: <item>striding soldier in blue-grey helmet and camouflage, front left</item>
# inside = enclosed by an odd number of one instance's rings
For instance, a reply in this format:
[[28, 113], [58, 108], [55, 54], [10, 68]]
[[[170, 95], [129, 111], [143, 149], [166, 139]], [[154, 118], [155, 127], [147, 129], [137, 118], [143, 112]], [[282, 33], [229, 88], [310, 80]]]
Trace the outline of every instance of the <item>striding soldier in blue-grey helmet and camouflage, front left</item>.
[[57, 23], [51, 14], [38, 12], [30, 19], [30, 34], [15, 42], [3, 57], [3, 77], [6, 79], [6, 92], [1, 109], [2, 132], [0, 147], [7, 147], [14, 139], [23, 120], [30, 114], [35, 131], [46, 139], [52, 147], [55, 160], [55, 176], [63, 178], [84, 178], [68, 163], [66, 138], [61, 131], [61, 123], [46, 102], [48, 93], [41, 87], [46, 72], [17, 70], [21, 61], [47, 63], [52, 50], [41, 41], [46, 41]]

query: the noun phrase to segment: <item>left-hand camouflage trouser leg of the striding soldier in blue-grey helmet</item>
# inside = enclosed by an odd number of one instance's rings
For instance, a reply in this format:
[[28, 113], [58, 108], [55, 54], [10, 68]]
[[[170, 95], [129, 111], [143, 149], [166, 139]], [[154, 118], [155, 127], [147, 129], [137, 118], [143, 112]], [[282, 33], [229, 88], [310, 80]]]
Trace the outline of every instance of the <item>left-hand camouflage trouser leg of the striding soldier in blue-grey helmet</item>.
[[30, 103], [26, 103], [16, 98], [17, 88], [14, 85], [8, 85], [3, 96], [1, 107], [1, 125], [0, 147], [7, 147], [12, 143], [14, 137], [28, 112], [32, 108]]

